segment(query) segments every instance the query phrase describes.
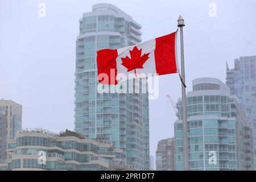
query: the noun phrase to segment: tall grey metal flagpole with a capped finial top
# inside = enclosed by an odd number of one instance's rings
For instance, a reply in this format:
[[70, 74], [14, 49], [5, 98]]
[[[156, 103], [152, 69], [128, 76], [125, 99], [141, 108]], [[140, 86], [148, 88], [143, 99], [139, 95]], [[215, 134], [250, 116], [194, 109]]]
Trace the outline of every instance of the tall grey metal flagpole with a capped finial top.
[[184, 44], [183, 27], [184, 19], [179, 16], [177, 26], [180, 28], [180, 54], [181, 54], [181, 82], [182, 82], [182, 123], [183, 123], [183, 155], [184, 171], [188, 171], [188, 137], [187, 137], [187, 105], [186, 105], [186, 86], [185, 86], [185, 66], [184, 66]]

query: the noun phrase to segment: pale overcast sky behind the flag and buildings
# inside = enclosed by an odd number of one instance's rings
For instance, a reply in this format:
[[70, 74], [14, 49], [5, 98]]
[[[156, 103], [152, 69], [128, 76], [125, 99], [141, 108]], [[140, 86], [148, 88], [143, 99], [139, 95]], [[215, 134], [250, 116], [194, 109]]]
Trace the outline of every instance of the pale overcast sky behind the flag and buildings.
[[[46, 3], [39, 18], [38, 3]], [[255, 0], [79, 1], [0, 0], [0, 97], [23, 105], [23, 127], [59, 133], [74, 128], [75, 41], [79, 18], [95, 3], [112, 3], [142, 24], [142, 40], [174, 32], [185, 19], [187, 91], [192, 80], [216, 77], [225, 81], [225, 61], [256, 55]], [[209, 4], [217, 16], [209, 16]], [[160, 77], [158, 100], [150, 101], [150, 153], [158, 140], [174, 137], [176, 116], [167, 108], [181, 95], [177, 75]]]

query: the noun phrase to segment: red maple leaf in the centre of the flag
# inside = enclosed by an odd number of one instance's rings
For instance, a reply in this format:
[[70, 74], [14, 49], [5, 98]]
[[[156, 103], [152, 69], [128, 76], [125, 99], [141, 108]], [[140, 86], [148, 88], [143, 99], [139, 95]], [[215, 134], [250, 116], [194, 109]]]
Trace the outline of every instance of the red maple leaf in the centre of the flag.
[[121, 57], [122, 65], [127, 68], [127, 72], [130, 72], [134, 69], [135, 76], [137, 76], [136, 69], [142, 69], [143, 64], [149, 59], [148, 55], [150, 53], [144, 53], [141, 56], [141, 49], [138, 49], [136, 46], [133, 48], [133, 51], [130, 50], [130, 57]]

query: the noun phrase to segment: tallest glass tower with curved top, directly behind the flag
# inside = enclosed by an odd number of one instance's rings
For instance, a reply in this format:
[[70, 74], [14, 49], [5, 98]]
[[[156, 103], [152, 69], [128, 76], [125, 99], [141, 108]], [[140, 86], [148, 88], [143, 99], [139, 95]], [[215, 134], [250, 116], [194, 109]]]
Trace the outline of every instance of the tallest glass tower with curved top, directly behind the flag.
[[86, 138], [111, 140], [114, 147], [123, 150], [129, 168], [149, 170], [148, 94], [97, 93], [96, 51], [140, 43], [142, 27], [130, 15], [106, 3], [82, 14], [79, 24], [75, 131]]

